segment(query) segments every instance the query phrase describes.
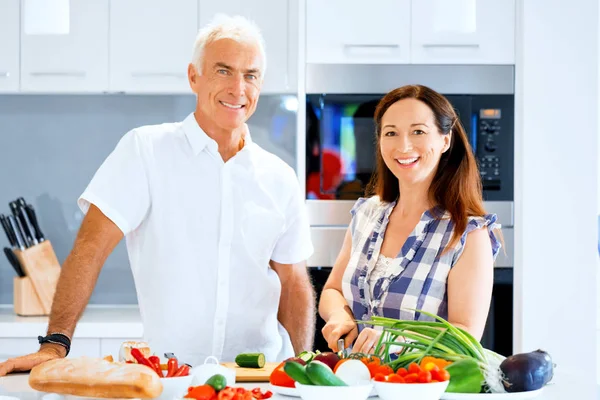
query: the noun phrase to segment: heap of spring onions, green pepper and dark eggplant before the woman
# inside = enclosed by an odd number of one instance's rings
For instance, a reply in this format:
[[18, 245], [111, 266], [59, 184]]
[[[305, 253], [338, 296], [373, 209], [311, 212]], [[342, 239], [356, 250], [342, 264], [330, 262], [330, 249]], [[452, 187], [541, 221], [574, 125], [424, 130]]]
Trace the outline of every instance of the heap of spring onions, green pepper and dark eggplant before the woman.
[[531, 391], [542, 388], [553, 377], [554, 364], [546, 352], [538, 350], [505, 358], [483, 348], [467, 331], [443, 318], [417, 311], [435, 321], [403, 321], [377, 316], [369, 321], [357, 321], [383, 327], [375, 354], [397, 375], [410, 369], [411, 365], [422, 366], [427, 357], [434, 357], [446, 361], [442, 369], [450, 375], [447, 392]]

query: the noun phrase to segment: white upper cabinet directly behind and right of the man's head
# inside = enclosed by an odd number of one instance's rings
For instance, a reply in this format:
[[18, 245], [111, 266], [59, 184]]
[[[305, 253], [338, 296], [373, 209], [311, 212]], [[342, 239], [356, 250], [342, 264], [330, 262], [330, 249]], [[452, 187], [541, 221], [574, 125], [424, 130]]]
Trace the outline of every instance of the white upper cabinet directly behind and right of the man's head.
[[[267, 69], [262, 93], [290, 93], [297, 89], [297, 13], [287, 0], [200, 0], [200, 27], [209, 23], [216, 14], [242, 15], [254, 21], [265, 39]], [[293, 16], [293, 17], [292, 17]]]

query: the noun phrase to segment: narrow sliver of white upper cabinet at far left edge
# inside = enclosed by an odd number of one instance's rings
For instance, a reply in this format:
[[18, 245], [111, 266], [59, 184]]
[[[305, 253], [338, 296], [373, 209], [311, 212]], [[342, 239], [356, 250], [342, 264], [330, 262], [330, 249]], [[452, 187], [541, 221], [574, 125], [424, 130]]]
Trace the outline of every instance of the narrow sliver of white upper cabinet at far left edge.
[[19, 0], [2, 0], [0, 11], [0, 93], [19, 91]]

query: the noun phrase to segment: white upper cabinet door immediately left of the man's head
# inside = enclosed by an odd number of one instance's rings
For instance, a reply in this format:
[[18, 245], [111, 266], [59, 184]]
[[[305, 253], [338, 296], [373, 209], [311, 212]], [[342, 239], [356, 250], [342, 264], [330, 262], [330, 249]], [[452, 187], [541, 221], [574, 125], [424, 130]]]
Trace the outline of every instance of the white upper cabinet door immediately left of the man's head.
[[111, 0], [111, 91], [191, 93], [197, 30], [197, 0]]

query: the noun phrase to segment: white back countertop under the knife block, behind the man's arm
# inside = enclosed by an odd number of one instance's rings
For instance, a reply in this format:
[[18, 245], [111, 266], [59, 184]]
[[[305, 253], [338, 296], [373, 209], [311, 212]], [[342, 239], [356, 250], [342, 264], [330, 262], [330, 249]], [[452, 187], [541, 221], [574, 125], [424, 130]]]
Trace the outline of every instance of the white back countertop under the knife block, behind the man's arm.
[[[38, 337], [46, 333], [48, 317], [20, 317], [11, 305], [0, 306], [0, 338]], [[78, 338], [141, 338], [137, 306], [96, 306], [86, 308], [75, 329]]]

